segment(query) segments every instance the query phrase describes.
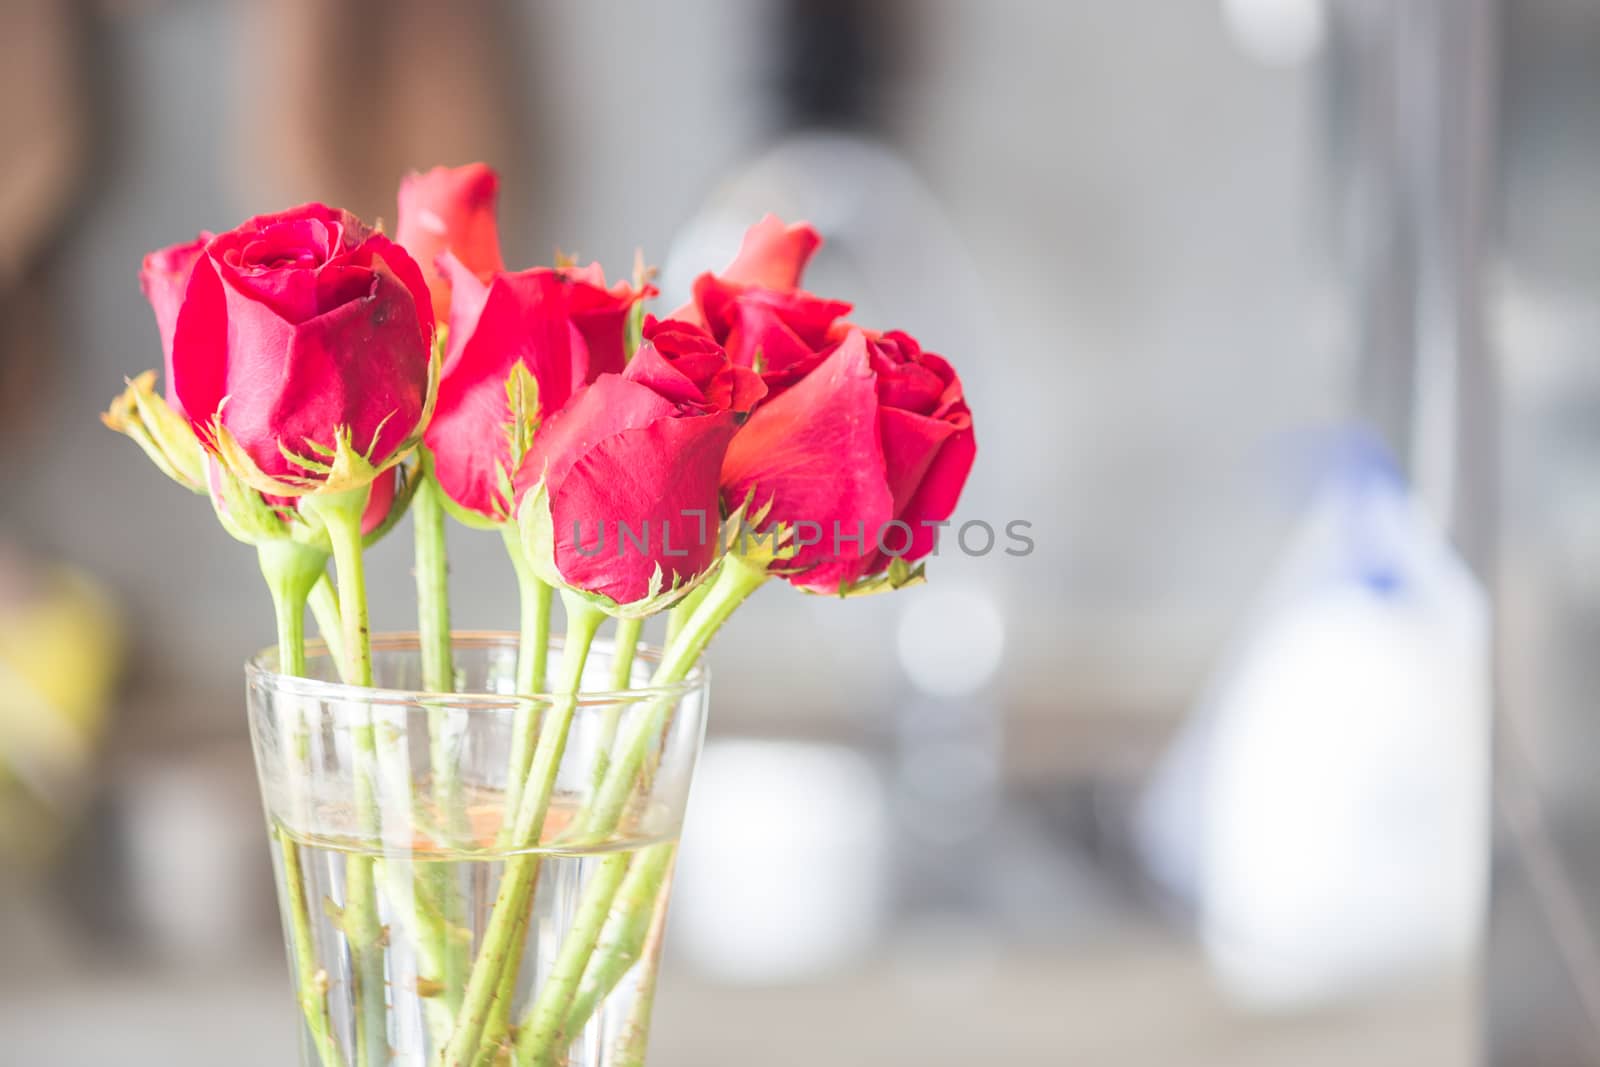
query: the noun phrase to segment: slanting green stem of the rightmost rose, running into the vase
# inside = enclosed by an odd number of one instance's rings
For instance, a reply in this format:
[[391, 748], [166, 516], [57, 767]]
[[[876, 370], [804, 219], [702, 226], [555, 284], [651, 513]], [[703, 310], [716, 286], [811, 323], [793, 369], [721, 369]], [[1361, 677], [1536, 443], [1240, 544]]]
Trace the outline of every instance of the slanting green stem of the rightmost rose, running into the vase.
[[[717, 577], [712, 579], [706, 597], [683, 624], [677, 640], [667, 646], [661, 665], [656, 667], [656, 673], [651, 677], [651, 683], [670, 685], [688, 677], [690, 669], [699, 661], [701, 653], [706, 651], [706, 646], [717, 635], [717, 630], [722, 629], [722, 624], [765, 581], [766, 569], [763, 566], [747, 563], [739, 557], [726, 557]], [[634, 729], [621, 758], [608, 768], [605, 781], [589, 805], [587, 814], [582, 819], [581, 840], [598, 841], [616, 833], [622, 821], [622, 813], [627, 808], [627, 800], [637, 784], [637, 776], [650, 753], [651, 742], [666, 729], [674, 707], [675, 701], [659, 697]], [[618, 853], [616, 856], [624, 854]], [[584, 886], [582, 899], [578, 905], [578, 918], [562, 941], [555, 971], [539, 990], [539, 997], [534, 1000], [517, 1035], [518, 1062], [526, 1061], [534, 1067], [558, 1062], [571, 1035], [582, 1029], [587, 1021], [573, 1011], [578, 997], [578, 982], [594, 968], [597, 984], [590, 998], [592, 1011], [594, 1005], [598, 1005], [611, 992], [616, 981], [632, 965], [632, 961], [622, 963], [627, 939], [621, 936], [600, 958], [592, 960], [600, 942], [602, 926], [606, 923], [606, 917], [611, 915], [613, 902], [619, 896], [627, 875], [629, 864], [626, 861], [619, 865], [613, 864], [616, 856], [606, 857], [600, 870]], [[634, 859], [634, 864], [643, 867], [638, 875], [640, 889], [650, 885], [651, 877], [658, 880], [659, 888], [659, 878], [664, 877], [664, 872], [648, 870], [651, 859], [640, 854]], [[650, 897], [650, 901], [653, 899]], [[630, 907], [637, 907], [637, 902], [624, 902], [624, 915], [616, 920], [618, 923], [630, 921], [627, 917]], [[618, 955], [616, 960], [610, 958], [613, 953]], [[602, 977], [608, 979], [610, 985], [603, 985]]]

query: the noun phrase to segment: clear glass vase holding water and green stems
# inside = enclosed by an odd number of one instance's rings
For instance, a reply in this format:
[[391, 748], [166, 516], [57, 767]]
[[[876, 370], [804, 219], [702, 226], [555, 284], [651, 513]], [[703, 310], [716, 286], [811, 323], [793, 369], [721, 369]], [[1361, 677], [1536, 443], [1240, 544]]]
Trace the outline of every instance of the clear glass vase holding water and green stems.
[[[246, 667], [307, 1067], [642, 1064], [707, 677], [518, 694], [517, 638], [454, 637], [454, 693], [414, 635], [373, 640], [374, 688]], [[549, 649], [555, 677], [560, 640]]]

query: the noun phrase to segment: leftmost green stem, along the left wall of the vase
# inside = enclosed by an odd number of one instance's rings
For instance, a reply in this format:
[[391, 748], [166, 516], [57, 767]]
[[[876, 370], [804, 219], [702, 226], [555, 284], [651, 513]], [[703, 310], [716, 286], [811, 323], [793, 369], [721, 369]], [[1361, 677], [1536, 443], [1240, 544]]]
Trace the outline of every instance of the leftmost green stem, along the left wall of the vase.
[[[306, 600], [318, 579], [326, 574], [325, 552], [294, 541], [262, 541], [256, 545], [261, 574], [272, 593], [272, 611], [278, 632], [278, 673], [302, 677], [306, 673]], [[304, 729], [304, 723], [301, 726]], [[294, 763], [291, 763], [294, 766]], [[296, 800], [304, 789], [293, 789]], [[272, 832], [283, 856], [283, 894], [288, 905], [290, 945], [294, 952], [294, 989], [306, 1027], [323, 1067], [342, 1067], [344, 1056], [333, 1037], [333, 1016], [328, 1011], [328, 971], [317, 966], [315, 936], [310, 925], [310, 907], [306, 902], [306, 873], [301, 867], [299, 845], [282, 825]]]

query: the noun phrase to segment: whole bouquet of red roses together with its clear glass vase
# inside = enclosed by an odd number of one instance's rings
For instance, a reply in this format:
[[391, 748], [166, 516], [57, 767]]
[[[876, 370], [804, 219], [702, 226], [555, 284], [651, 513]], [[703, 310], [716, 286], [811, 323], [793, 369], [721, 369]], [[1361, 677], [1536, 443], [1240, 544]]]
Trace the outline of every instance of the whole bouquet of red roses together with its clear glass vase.
[[[949, 363], [800, 288], [810, 226], [762, 219], [658, 317], [642, 266], [509, 270], [496, 184], [406, 178], [394, 240], [306, 205], [152, 253], [165, 392], [104, 416], [256, 549], [251, 737], [322, 1067], [642, 1062], [701, 653], [771, 579], [918, 581], [974, 454]], [[418, 632], [373, 637], [363, 550], [406, 509]], [[451, 632], [448, 522], [501, 534], [515, 637]]]

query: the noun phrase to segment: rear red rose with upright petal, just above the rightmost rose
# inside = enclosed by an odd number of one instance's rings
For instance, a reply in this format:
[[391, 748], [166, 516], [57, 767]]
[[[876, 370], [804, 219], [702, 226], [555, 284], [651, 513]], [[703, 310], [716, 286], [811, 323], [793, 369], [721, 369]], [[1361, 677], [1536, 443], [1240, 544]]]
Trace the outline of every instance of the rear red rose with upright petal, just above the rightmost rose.
[[829, 330], [850, 314], [850, 304], [798, 288], [821, 245], [810, 224], [768, 214], [746, 232], [726, 270], [694, 280], [694, 299], [674, 318], [710, 330], [730, 360], [760, 371], [773, 400], [818, 365]]

